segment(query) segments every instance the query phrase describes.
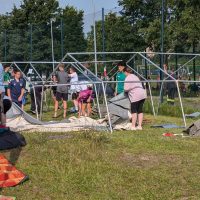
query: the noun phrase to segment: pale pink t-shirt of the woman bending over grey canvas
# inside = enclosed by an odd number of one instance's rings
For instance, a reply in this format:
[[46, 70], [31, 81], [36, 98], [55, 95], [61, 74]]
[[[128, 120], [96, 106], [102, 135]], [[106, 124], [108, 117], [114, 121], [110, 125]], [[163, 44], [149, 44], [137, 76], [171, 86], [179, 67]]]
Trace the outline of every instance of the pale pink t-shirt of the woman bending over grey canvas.
[[[133, 81], [131, 83], [131, 81]], [[124, 90], [128, 92], [131, 102], [137, 102], [147, 98], [146, 91], [140, 79], [134, 74], [129, 74], [125, 79]]]

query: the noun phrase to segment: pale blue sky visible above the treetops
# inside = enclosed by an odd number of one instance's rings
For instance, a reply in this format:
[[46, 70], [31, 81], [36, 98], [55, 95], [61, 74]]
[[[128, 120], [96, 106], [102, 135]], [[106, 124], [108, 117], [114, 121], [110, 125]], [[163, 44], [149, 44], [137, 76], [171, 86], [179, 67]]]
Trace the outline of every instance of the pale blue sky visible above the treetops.
[[[101, 10], [105, 8], [105, 14], [112, 12], [118, 12], [120, 7], [118, 6], [118, 0], [59, 0], [60, 7], [72, 5], [77, 9], [84, 11], [84, 32], [87, 33], [93, 24], [94, 4], [95, 4], [95, 19], [101, 19]], [[11, 12], [14, 5], [19, 7], [21, 0], [0, 0], [0, 14]]]

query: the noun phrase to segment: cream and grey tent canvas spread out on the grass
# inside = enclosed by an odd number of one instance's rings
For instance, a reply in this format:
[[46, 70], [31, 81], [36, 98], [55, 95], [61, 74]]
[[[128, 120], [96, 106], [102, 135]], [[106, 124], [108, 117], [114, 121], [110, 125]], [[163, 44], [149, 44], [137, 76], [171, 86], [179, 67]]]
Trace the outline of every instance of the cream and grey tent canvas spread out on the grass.
[[17, 105], [13, 104], [7, 113], [7, 126], [12, 131], [28, 132], [68, 132], [80, 130], [108, 130], [106, 123], [94, 120], [89, 117], [71, 117], [66, 122], [41, 122], [26, 112], [22, 111]]

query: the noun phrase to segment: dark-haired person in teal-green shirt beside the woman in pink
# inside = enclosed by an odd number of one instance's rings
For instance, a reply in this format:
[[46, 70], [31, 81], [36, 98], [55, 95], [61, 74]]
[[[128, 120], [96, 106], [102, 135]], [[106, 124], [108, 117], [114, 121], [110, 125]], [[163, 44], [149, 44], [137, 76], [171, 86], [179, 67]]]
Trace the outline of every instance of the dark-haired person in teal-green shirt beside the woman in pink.
[[117, 66], [118, 66], [118, 73], [116, 76], [116, 81], [119, 81], [119, 82], [117, 82], [117, 85], [116, 85], [115, 96], [124, 92], [124, 82], [121, 82], [121, 81], [124, 81], [126, 78], [124, 74], [125, 64], [123, 62], [119, 62]]

